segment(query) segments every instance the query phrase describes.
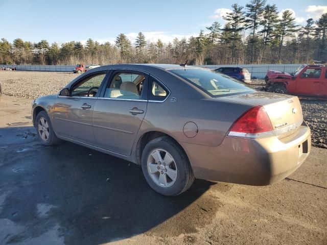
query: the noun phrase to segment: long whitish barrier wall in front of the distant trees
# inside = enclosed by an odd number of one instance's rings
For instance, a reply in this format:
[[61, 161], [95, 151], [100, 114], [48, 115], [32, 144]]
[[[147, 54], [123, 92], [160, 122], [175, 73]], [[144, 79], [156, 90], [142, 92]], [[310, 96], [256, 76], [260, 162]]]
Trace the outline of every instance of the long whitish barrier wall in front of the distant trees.
[[[262, 64], [262, 65], [198, 65], [208, 69], [219, 67], [244, 67], [249, 70], [252, 78], [265, 78], [267, 70], [292, 72], [301, 64]], [[16, 67], [17, 70], [36, 71], [72, 71], [75, 65], [0, 65], [0, 67]]]

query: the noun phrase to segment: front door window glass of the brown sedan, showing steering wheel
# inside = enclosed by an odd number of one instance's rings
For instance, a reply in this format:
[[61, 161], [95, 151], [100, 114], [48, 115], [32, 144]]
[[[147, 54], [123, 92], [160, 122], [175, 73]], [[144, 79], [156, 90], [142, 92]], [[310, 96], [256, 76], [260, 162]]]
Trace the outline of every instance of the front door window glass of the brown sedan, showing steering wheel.
[[73, 86], [72, 96], [96, 96], [105, 76], [105, 72], [98, 73], [93, 76], [88, 76], [87, 78], [78, 82], [76, 85]]

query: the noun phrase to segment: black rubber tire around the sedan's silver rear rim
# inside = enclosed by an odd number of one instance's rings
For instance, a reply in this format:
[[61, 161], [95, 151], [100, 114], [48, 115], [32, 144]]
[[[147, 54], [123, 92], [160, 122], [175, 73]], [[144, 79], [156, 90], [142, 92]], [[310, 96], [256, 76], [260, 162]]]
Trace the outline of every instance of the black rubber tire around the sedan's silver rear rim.
[[[155, 149], [163, 149], [167, 151], [174, 159], [177, 171], [177, 178], [174, 184], [170, 187], [161, 187], [151, 178], [148, 170], [148, 157]], [[179, 195], [185, 190], [189, 189], [194, 182], [194, 174], [190, 165], [189, 159], [174, 140], [167, 136], [155, 138], [147, 143], [142, 152], [142, 170], [148, 184], [156, 192], [173, 197]]]

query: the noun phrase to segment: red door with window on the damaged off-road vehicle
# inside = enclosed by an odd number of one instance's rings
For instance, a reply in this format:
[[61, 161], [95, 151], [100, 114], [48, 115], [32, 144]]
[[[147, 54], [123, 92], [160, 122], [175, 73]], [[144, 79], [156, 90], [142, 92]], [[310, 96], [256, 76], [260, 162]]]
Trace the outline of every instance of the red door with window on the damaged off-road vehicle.
[[321, 94], [319, 86], [321, 73], [321, 68], [309, 67], [303, 70], [297, 76], [295, 93], [308, 95]]

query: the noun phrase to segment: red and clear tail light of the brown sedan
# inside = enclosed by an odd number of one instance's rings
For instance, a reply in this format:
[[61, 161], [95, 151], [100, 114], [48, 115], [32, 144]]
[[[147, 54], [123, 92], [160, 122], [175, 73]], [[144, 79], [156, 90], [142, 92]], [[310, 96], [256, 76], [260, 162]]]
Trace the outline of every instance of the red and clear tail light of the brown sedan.
[[240, 116], [229, 130], [228, 136], [260, 138], [274, 135], [271, 121], [262, 106], [255, 106]]

